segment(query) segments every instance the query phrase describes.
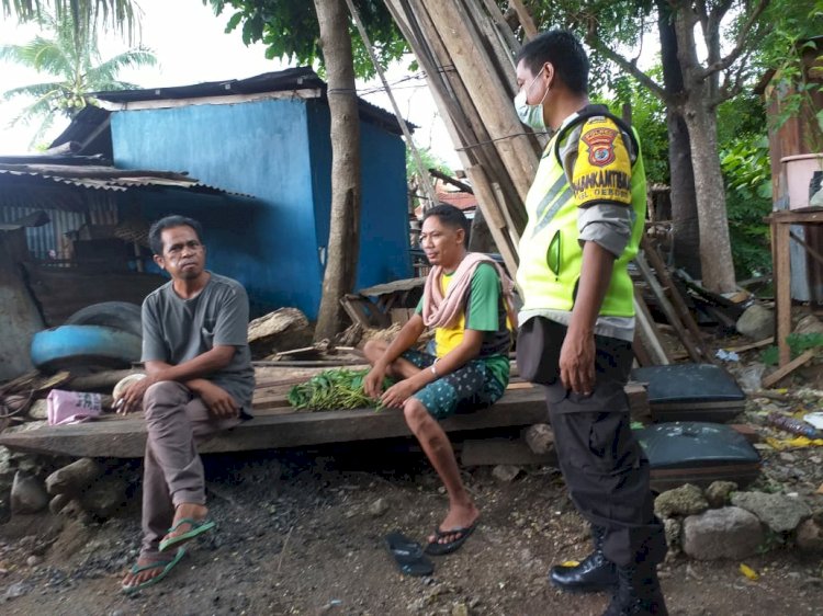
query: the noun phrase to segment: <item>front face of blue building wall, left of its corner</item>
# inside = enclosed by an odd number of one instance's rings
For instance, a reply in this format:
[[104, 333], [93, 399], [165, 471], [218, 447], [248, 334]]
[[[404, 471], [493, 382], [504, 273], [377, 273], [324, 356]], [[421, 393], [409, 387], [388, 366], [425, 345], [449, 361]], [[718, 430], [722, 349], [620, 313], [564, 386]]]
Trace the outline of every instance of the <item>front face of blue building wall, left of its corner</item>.
[[202, 219], [208, 266], [243, 283], [256, 313], [296, 306], [309, 318], [316, 315], [319, 264], [302, 102], [119, 112], [112, 138], [117, 167], [188, 171], [258, 197], [256, 207], [161, 198], [144, 214], [156, 218], [179, 210]]

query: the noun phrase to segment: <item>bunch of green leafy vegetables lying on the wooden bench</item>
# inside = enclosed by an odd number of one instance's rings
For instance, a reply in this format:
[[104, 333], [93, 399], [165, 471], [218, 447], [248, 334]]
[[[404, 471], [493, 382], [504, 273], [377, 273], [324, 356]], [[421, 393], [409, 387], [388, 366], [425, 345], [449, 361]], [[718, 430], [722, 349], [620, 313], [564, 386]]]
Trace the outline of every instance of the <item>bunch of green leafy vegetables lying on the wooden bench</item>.
[[[340, 409], [381, 409], [380, 399], [369, 397], [363, 390], [363, 379], [368, 369], [347, 370], [345, 368], [324, 370], [306, 383], [295, 385], [289, 391], [289, 403], [297, 410], [334, 411]], [[383, 388], [393, 381], [383, 379]]]

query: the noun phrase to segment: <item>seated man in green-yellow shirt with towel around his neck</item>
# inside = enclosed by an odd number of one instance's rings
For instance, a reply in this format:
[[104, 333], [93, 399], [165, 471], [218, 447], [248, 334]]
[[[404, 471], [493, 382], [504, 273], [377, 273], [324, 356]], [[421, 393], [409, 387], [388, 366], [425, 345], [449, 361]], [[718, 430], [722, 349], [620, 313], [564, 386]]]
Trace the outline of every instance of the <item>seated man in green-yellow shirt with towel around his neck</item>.
[[[507, 316], [514, 285], [488, 256], [466, 251], [467, 235], [469, 220], [454, 206], [438, 205], [425, 214], [420, 247], [432, 267], [424, 297], [391, 344], [373, 340], [364, 347], [373, 366], [365, 392], [380, 396], [386, 407], [403, 408], [449, 494], [449, 513], [426, 547], [436, 556], [458, 549], [480, 517], [438, 420], [492, 404], [509, 379]], [[412, 350], [429, 327], [437, 355]], [[386, 376], [401, 380], [383, 391]]]

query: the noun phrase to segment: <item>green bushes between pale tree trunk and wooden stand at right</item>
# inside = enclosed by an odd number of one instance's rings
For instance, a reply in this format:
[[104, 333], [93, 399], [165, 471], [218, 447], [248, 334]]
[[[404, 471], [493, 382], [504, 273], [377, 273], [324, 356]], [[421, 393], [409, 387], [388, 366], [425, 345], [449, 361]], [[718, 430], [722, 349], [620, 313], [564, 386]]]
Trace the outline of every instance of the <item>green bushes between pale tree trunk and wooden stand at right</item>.
[[721, 151], [726, 183], [726, 213], [732, 259], [739, 278], [768, 272], [771, 252], [768, 225], [771, 210], [771, 168], [768, 140], [739, 138]]

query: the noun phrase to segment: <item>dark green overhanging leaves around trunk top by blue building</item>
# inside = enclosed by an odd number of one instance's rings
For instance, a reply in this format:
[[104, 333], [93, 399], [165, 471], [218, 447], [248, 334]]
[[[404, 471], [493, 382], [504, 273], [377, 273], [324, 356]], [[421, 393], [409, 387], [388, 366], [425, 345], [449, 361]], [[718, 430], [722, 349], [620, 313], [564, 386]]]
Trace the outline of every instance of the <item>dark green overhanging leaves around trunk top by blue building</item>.
[[[215, 14], [226, 9], [234, 10], [226, 24], [226, 32], [239, 28], [246, 45], [262, 42], [268, 47], [267, 58], [286, 58], [302, 66], [325, 66], [320, 47], [320, 27], [314, 2], [311, 0], [203, 0]], [[399, 59], [408, 52], [385, 4], [380, 0], [354, 0], [369, 38], [382, 68]], [[353, 21], [349, 20], [352, 41], [354, 75], [369, 79], [376, 69]]]

